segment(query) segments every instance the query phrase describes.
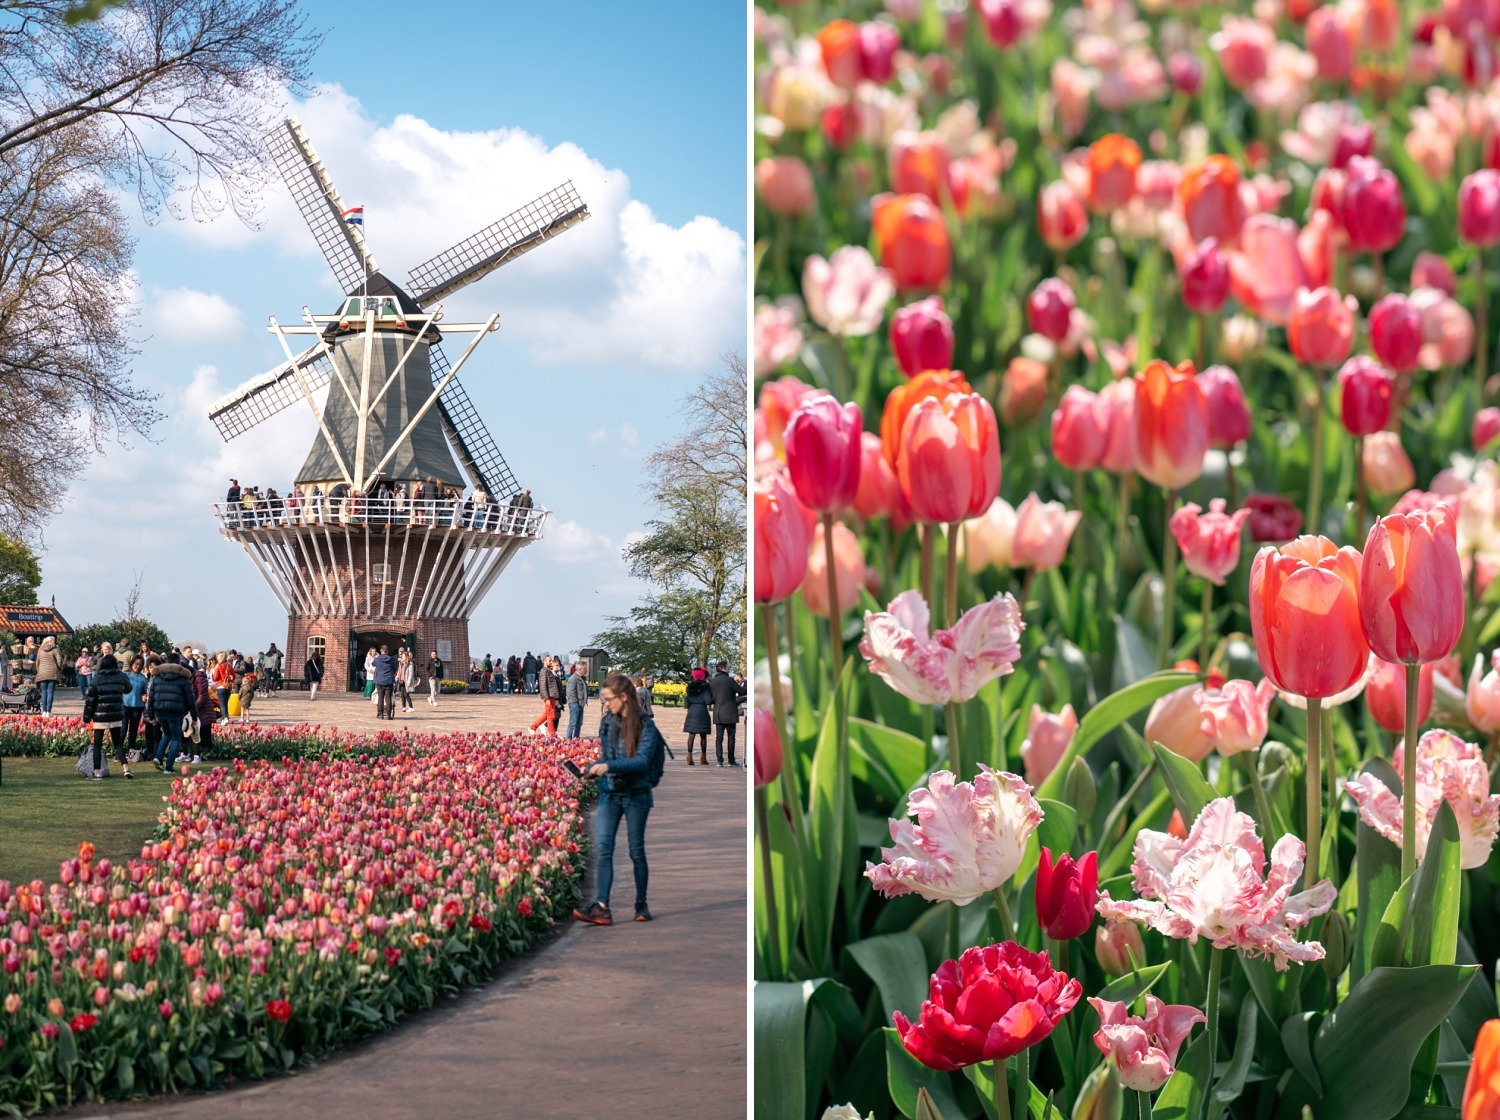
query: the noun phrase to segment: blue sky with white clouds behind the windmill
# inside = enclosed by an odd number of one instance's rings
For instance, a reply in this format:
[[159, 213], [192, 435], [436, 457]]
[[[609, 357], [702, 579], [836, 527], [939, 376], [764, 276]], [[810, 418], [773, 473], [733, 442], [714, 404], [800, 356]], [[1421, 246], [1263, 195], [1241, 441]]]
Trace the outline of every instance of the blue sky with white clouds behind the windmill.
[[[460, 379], [524, 484], [555, 514], [474, 616], [476, 652], [566, 651], [646, 588], [620, 549], [651, 517], [640, 462], [676, 400], [746, 351], [746, 16], [720, 3], [309, 3], [328, 31], [315, 96], [288, 102], [366, 238], [412, 265], [572, 178], [594, 217], [452, 297], [500, 312]], [[315, 436], [304, 408], [224, 444], [206, 406], [280, 360], [266, 316], [338, 289], [274, 183], [262, 228], [164, 220], [138, 237], [136, 381], [154, 442], [106, 445], [45, 532], [42, 597], [74, 622], [141, 609], [174, 640], [284, 645], [285, 615], [208, 502], [226, 478], [285, 490]], [[462, 343], [450, 343], [450, 358]]]

